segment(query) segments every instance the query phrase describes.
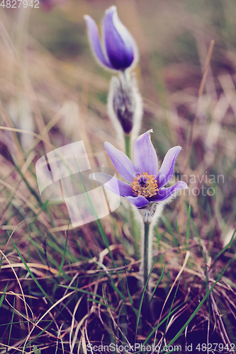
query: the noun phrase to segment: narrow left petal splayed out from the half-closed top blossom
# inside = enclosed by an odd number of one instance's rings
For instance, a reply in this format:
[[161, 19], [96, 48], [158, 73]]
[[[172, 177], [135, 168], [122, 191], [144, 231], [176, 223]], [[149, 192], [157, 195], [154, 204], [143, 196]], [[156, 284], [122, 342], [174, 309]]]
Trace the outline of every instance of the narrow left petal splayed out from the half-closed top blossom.
[[84, 16], [86, 20], [86, 24], [89, 30], [89, 42], [91, 45], [91, 49], [94, 52], [94, 56], [96, 59], [99, 59], [100, 64], [106, 65], [106, 67], [112, 68], [112, 65], [106, 59], [103, 50], [101, 48], [101, 42], [99, 38], [99, 30], [96, 25], [96, 22], [93, 18], [88, 15]]

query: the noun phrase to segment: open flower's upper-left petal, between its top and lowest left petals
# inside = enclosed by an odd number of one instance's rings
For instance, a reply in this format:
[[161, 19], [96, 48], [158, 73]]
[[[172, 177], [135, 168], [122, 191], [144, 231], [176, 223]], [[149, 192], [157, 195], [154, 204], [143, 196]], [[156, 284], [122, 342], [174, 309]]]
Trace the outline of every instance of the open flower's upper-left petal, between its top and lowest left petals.
[[134, 178], [133, 175], [137, 172], [137, 169], [135, 169], [135, 166], [130, 161], [128, 156], [123, 154], [123, 152], [120, 152], [120, 150], [116, 149], [116, 147], [113, 147], [113, 145], [109, 142], [105, 142], [104, 145], [118, 173], [120, 173], [126, 181], [132, 183]]

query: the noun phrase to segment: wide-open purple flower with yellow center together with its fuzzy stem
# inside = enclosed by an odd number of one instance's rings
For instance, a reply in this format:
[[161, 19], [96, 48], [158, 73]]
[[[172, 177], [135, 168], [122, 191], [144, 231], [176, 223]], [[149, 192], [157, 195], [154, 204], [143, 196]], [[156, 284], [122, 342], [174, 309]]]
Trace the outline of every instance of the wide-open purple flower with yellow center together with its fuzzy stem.
[[[107, 188], [114, 193], [125, 197], [135, 207], [137, 221], [142, 223], [141, 226], [141, 251], [143, 255], [140, 264], [140, 273], [143, 275], [143, 285], [147, 285], [148, 275], [150, 274], [152, 265], [152, 235], [154, 224], [160, 217], [164, 204], [175, 197], [178, 190], [187, 188], [183, 181], [179, 181], [169, 188], [164, 188], [174, 173], [174, 164], [181, 147], [172, 147], [169, 149], [161, 168], [158, 168], [157, 154], [154, 150], [148, 130], [140, 135], [135, 142], [135, 164], [130, 161], [128, 156], [120, 152], [116, 147], [105, 143], [106, 151], [116, 167], [117, 171], [128, 183], [119, 181], [116, 178], [108, 176], [106, 173], [92, 173], [90, 178], [106, 185]], [[137, 211], [138, 210], [138, 211]], [[141, 217], [141, 220], [140, 220]], [[149, 296], [145, 292], [144, 297], [144, 314], [149, 303]]]

